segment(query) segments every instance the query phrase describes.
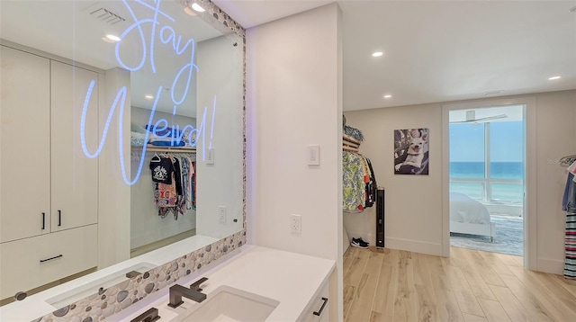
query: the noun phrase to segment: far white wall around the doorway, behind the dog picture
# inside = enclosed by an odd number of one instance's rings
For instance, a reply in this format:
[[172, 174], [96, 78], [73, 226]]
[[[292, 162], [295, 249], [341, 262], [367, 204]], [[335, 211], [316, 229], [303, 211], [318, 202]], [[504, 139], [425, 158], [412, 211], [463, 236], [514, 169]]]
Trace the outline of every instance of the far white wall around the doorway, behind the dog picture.
[[[554, 160], [576, 153], [573, 139], [576, 91], [510, 96], [501, 100], [524, 100], [536, 105], [527, 116], [527, 149], [535, 156], [535, 162], [528, 159], [527, 180], [528, 188], [536, 196], [536, 200], [528, 201], [531, 208], [527, 216], [536, 219], [536, 227], [529, 228], [532, 240], [527, 241], [536, 240], [533, 247], [536, 249], [530, 251], [535, 256], [530, 268], [561, 273], [565, 220], [561, 204], [566, 174], [564, 167], [555, 164]], [[487, 100], [462, 103], [483, 101]], [[442, 156], [446, 153], [442, 140], [442, 105], [433, 103], [345, 113], [347, 124], [363, 131], [365, 142], [360, 152], [371, 159], [378, 184], [386, 188], [386, 247], [443, 254], [443, 246], [446, 246], [443, 220], [447, 219], [443, 201], [447, 196], [442, 187], [448, 174], [442, 165]], [[393, 130], [410, 128], [430, 129], [428, 176], [393, 174]], [[374, 220], [374, 210], [345, 215], [348, 234], [374, 234]], [[374, 239], [370, 241], [374, 242]]]

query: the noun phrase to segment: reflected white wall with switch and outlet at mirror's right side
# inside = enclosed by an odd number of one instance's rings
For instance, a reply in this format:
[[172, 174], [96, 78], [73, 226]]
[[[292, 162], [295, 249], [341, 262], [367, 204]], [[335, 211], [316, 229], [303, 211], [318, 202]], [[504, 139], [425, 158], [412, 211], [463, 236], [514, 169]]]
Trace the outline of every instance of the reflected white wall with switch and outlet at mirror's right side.
[[[233, 46], [235, 42], [237, 46]], [[242, 50], [242, 41], [236, 35], [221, 36], [198, 43], [196, 62], [200, 71], [196, 125], [199, 129], [204, 108], [207, 109], [205, 131], [199, 134], [196, 148], [197, 235], [222, 238], [243, 228]], [[214, 97], [216, 97], [215, 114]], [[210, 147], [214, 148], [213, 165], [207, 164], [204, 160]], [[217, 216], [219, 206], [226, 207], [224, 223], [220, 222]]]

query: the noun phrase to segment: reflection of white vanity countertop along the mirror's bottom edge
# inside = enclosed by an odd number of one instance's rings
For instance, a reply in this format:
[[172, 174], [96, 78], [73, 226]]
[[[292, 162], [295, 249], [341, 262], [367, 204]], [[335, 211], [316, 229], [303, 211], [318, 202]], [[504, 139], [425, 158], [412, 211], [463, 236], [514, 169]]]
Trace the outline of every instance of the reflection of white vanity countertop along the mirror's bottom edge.
[[[33, 294], [25, 300], [15, 301], [0, 307], [0, 321], [19, 322], [40, 318], [56, 309], [59, 309], [51, 306], [47, 302], [47, 300], [54, 298], [59, 294], [74, 290], [86, 284], [106, 279], [112, 274], [120, 273], [122, 275], [128, 273], [127, 269], [137, 264], [151, 264], [154, 267], [166, 264], [179, 256], [190, 253], [191, 249], [199, 249], [216, 241], [218, 241], [218, 238], [196, 235], [149, 253], [130, 258], [129, 260], [123, 261], [119, 264], [113, 264], [112, 266], [103, 268], [97, 272], [89, 273], [73, 281], [50, 288], [49, 290]], [[94, 286], [94, 291], [97, 290], [98, 286]]]

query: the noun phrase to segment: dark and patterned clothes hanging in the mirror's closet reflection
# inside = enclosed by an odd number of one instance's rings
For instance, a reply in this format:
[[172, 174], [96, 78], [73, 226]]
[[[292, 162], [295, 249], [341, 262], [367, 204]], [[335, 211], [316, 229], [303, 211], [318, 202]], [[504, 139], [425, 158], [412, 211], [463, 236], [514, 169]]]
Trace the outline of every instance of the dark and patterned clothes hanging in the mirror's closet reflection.
[[178, 219], [186, 210], [195, 209], [195, 162], [190, 157], [155, 155], [149, 167], [158, 216], [166, 218], [172, 213]]

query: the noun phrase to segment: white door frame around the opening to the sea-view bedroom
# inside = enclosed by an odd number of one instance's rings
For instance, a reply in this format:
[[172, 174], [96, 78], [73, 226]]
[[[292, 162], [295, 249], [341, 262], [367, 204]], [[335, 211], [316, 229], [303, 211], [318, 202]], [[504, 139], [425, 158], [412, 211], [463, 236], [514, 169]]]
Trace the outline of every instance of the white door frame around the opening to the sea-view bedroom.
[[450, 256], [450, 141], [449, 141], [449, 114], [455, 110], [480, 109], [493, 106], [525, 105], [524, 129], [526, 139], [525, 147], [525, 176], [524, 189], [524, 267], [536, 270], [537, 243], [536, 243], [536, 97], [515, 96], [510, 98], [497, 98], [475, 100], [464, 103], [442, 104], [442, 255]]

